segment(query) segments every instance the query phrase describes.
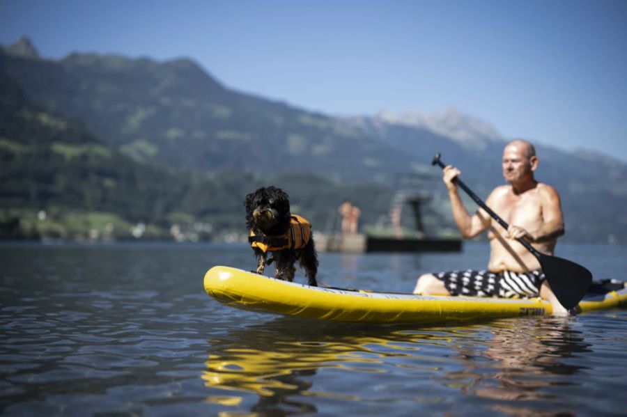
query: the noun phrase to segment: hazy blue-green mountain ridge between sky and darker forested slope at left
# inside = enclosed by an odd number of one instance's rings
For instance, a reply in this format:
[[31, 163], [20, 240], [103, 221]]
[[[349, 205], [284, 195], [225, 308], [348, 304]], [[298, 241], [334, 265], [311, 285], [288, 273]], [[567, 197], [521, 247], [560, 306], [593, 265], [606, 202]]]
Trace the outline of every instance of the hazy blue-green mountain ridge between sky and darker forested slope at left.
[[0, 61], [33, 102], [82, 120], [138, 161], [204, 173], [305, 171], [337, 182], [384, 182], [415, 164], [341, 120], [224, 88], [188, 59], [5, 54]]

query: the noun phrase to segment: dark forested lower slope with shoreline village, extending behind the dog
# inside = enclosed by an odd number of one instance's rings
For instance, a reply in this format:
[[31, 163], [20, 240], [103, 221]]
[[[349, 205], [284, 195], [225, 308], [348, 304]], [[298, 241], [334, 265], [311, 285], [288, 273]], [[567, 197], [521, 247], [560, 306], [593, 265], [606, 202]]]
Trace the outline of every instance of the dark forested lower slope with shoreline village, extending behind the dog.
[[[343, 187], [312, 175], [230, 169], [210, 177], [137, 162], [82, 123], [31, 104], [0, 73], [0, 238], [203, 239], [244, 233], [243, 198], [263, 184], [292, 190], [295, 212], [317, 230], [349, 197], [374, 223], [391, 191]], [[371, 191], [374, 197], [369, 195]]]

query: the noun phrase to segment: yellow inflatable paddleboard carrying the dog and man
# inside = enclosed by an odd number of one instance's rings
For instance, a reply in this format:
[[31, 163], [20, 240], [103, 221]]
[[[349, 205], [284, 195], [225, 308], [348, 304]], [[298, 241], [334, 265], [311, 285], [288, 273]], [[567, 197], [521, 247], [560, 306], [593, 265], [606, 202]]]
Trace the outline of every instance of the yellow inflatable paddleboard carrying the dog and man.
[[[341, 288], [311, 287], [231, 267], [205, 274], [207, 294], [229, 306], [318, 320], [362, 323], [435, 323], [497, 317], [551, 315], [548, 301], [485, 297], [439, 297]], [[606, 286], [607, 287], [607, 286]], [[627, 287], [596, 285], [579, 313], [627, 306]]]

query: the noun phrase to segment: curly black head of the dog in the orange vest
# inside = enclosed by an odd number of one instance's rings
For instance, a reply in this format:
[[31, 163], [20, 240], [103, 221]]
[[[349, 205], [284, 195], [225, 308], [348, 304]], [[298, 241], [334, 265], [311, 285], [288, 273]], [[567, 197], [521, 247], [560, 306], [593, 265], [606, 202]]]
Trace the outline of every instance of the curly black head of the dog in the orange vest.
[[290, 198], [277, 187], [261, 187], [248, 194], [246, 227], [261, 230], [266, 235], [284, 233], [290, 225]]

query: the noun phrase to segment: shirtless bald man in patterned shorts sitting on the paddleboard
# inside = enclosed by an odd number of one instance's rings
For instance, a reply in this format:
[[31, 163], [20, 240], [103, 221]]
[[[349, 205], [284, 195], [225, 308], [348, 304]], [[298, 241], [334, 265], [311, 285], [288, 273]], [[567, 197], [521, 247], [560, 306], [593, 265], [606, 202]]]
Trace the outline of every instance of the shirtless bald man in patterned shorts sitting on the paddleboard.
[[488, 231], [488, 271], [452, 271], [424, 274], [415, 294], [468, 295], [479, 297], [537, 297], [550, 301], [554, 315], [567, 315], [545, 280], [537, 258], [516, 239], [522, 237], [542, 253], [553, 255], [557, 238], [564, 235], [559, 195], [553, 187], [534, 178], [538, 157], [534, 146], [522, 139], [511, 141], [503, 152], [503, 176], [509, 184], [495, 188], [486, 204], [510, 226], [505, 230], [483, 209], [470, 215], [454, 179], [460, 171], [444, 168], [453, 217], [465, 238]]

